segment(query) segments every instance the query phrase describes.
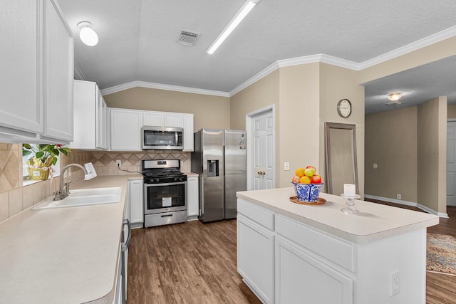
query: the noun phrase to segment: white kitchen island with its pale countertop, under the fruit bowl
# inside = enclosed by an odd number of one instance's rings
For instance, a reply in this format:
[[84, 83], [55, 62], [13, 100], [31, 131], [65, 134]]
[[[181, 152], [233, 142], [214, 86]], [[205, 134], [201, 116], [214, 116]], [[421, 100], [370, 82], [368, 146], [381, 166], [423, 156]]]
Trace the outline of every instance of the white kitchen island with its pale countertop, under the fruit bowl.
[[292, 187], [237, 192], [237, 269], [264, 303], [425, 304], [426, 228], [435, 215]]

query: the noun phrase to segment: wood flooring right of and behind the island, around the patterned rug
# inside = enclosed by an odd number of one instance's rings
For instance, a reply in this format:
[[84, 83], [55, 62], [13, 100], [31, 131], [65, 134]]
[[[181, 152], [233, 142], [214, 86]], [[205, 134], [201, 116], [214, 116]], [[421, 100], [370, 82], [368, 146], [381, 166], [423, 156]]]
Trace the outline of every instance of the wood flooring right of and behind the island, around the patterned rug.
[[[366, 199], [366, 201], [375, 201]], [[380, 204], [398, 206], [400, 208], [422, 211], [414, 206], [404, 206], [400, 204], [390, 204], [384, 201], [375, 201]], [[430, 234], [450, 234], [456, 236], [456, 206], [447, 207], [448, 219], [440, 218], [437, 226], [427, 228]], [[456, 304], [456, 276], [448, 276], [440, 273], [426, 273], [426, 304]]]

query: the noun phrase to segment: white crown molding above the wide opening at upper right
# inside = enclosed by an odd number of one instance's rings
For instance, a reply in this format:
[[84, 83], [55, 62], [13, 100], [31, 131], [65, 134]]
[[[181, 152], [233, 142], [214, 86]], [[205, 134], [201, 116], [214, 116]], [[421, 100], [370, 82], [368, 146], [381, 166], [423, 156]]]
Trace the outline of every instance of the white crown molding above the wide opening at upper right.
[[403, 55], [405, 55], [407, 53], [411, 53], [413, 51], [418, 51], [420, 48], [425, 48], [426, 46], [430, 46], [434, 43], [444, 41], [445, 39], [451, 38], [453, 36], [456, 36], [456, 26], [452, 26], [451, 28], [447, 28], [443, 31], [432, 34], [431, 36], [427, 36], [418, 41], [414, 41], [412, 43], [409, 43], [406, 46], [401, 46], [400, 48], [396, 48], [393, 51], [384, 53], [380, 56], [369, 59], [368, 61], [364, 61], [363, 63], [359, 64], [359, 70], [363, 70], [365, 68], [370, 68], [373, 65], [378, 65], [379, 63], [389, 61], [391, 59], [394, 59], [399, 56], [403, 56]]

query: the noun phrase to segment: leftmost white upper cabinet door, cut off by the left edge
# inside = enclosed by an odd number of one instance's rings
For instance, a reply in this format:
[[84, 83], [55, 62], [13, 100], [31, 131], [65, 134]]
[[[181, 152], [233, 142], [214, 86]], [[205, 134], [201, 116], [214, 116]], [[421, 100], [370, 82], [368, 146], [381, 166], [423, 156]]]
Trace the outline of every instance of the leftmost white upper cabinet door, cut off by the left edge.
[[43, 132], [38, 67], [42, 5], [41, 0], [0, 0], [0, 126], [33, 133]]

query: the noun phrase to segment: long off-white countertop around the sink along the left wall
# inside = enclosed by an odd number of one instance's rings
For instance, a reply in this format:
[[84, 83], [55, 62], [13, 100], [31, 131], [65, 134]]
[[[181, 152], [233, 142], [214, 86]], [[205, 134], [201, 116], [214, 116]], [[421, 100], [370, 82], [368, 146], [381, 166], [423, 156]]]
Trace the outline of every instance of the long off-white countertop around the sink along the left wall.
[[72, 188], [122, 187], [118, 204], [27, 209], [0, 224], [0, 303], [112, 303], [128, 179]]

